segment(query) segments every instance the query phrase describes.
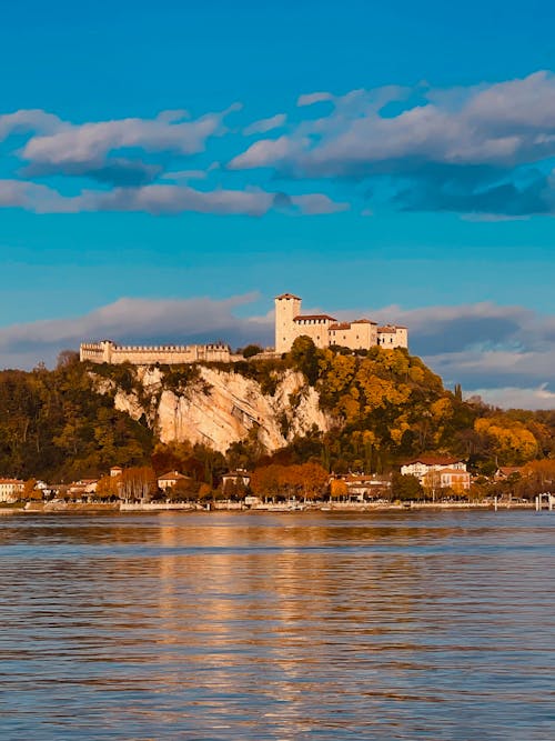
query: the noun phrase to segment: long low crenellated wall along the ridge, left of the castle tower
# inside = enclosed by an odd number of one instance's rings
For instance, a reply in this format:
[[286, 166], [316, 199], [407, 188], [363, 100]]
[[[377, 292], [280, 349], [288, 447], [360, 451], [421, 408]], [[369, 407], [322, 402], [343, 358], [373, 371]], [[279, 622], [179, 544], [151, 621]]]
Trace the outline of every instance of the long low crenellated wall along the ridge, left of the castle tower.
[[124, 363], [133, 366], [174, 366], [178, 363], [194, 363], [199, 361], [233, 360], [226, 344], [167, 344], [167, 346], [119, 346], [110, 340], [81, 344], [81, 361], [92, 363]]

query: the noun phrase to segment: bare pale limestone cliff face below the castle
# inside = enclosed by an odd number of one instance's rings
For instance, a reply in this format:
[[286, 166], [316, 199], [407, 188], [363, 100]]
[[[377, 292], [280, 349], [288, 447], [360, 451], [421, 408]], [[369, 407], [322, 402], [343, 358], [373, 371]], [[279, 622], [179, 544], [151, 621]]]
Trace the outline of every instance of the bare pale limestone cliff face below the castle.
[[[133, 419], [143, 414], [162, 442], [202, 442], [224, 453], [232, 442], [256, 434], [270, 452], [304, 434], [314, 425], [327, 431], [331, 418], [321, 411], [319, 395], [302, 373], [280, 373], [273, 395], [240, 373], [199, 367], [200, 379], [183, 393], [163, 389], [162, 371], [138, 367], [144, 393], [115, 393], [115, 408]], [[113, 387], [112, 387], [113, 388]], [[108, 390], [104, 384], [104, 389]], [[252, 432], [251, 432], [252, 431]]]

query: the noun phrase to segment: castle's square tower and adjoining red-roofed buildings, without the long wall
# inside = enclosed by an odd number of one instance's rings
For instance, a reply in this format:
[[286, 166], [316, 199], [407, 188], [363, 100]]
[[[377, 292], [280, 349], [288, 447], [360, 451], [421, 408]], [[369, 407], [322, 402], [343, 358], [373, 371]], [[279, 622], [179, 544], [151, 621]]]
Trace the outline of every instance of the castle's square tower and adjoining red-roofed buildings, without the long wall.
[[302, 314], [302, 300], [293, 293], [275, 297], [275, 352], [289, 352], [295, 339], [306, 334], [317, 348], [339, 344], [351, 350], [381, 346], [389, 350], [408, 347], [406, 327], [379, 327], [370, 319], [339, 322], [330, 314]]

